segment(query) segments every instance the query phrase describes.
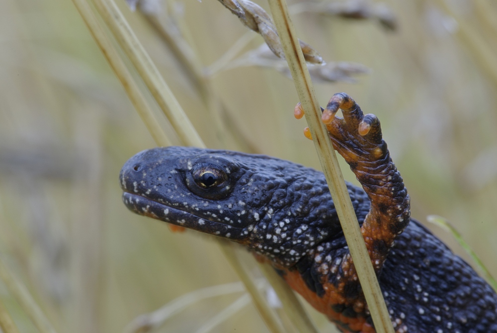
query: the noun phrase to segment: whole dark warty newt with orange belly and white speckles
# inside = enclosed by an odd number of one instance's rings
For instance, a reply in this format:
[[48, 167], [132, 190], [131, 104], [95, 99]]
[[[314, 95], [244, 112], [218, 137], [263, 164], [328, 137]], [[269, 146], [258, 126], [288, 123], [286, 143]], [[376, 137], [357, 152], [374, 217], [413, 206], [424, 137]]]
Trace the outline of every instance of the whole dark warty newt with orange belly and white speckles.
[[[362, 185], [347, 188], [396, 332], [497, 333], [495, 291], [411, 219], [376, 116], [340, 93], [323, 119]], [[264, 155], [166, 147], [128, 160], [120, 183], [131, 211], [240, 243], [341, 332], [375, 332], [323, 173]]]

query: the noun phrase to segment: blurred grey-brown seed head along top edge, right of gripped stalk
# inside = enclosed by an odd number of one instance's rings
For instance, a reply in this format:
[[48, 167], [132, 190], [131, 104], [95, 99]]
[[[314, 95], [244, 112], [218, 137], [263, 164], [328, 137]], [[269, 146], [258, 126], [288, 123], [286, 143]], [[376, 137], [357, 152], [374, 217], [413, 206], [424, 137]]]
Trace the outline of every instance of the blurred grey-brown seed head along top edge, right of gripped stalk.
[[394, 12], [385, 3], [366, 0], [337, 2], [300, 2], [289, 7], [291, 14], [317, 13], [349, 19], [377, 20], [387, 30], [396, 30], [398, 23]]

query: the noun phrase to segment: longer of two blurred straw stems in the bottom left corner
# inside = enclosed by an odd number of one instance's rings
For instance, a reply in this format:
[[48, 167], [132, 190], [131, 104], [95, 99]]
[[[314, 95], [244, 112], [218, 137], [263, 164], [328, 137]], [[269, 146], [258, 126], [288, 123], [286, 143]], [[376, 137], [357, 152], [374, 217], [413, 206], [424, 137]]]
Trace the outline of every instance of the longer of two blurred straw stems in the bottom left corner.
[[19, 303], [24, 313], [29, 317], [34, 326], [40, 333], [56, 333], [52, 324], [50, 324], [45, 314], [41, 311], [38, 304], [29, 294], [26, 287], [20, 282], [20, 279], [13, 276], [8, 267], [0, 258], [0, 279], [7, 287], [8, 292]]

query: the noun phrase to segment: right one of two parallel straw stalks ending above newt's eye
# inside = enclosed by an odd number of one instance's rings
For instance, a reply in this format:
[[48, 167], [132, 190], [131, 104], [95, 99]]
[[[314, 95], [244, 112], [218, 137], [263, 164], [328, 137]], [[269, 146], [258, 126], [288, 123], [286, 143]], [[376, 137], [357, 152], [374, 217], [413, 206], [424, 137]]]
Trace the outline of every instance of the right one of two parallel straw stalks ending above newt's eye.
[[152, 62], [126, 18], [113, 0], [94, 0], [100, 15], [116, 37], [119, 45], [138, 70], [143, 81], [166, 114], [179, 139], [187, 146], [204, 147], [202, 139], [193, 128], [178, 101]]

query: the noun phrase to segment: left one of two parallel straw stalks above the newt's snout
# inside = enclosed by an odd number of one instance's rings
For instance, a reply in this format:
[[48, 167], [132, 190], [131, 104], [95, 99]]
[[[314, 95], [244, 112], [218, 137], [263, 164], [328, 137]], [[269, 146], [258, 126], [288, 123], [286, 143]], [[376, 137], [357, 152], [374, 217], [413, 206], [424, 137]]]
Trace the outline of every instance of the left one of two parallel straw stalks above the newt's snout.
[[153, 111], [150, 109], [147, 100], [145, 99], [145, 96], [143, 96], [140, 88], [133, 79], [133, 76], [105, 34], [105, 31], [98, 23], [96, 16], [93, 14], [93, 11], [86, 0], [73, 0], [73, 2], [80, 12], [81, 17], [83, 17], [83, 20], [95, 39], [98, 47], [116, 74], [117, 79], [123, 85], [128, 98], [149, 129], [149, 132], [154, 140], [161, 146], [170, 146], [171, 141], [159, 125]]

